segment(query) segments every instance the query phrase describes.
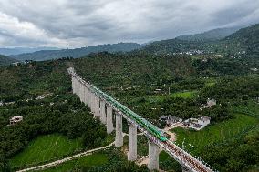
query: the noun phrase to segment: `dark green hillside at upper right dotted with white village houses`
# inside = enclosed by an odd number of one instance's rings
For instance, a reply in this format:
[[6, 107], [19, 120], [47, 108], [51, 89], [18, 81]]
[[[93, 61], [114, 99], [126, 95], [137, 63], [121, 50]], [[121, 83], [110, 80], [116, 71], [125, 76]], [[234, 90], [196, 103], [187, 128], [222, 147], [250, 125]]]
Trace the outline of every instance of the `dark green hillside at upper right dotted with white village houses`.
[[227, 57], [245, 57], [258, 55], [259, 25], [238, 30], [221, 40], [180, 40], [168, 39], [153, 42], [140, 50], [154, 54], [201, 54]]

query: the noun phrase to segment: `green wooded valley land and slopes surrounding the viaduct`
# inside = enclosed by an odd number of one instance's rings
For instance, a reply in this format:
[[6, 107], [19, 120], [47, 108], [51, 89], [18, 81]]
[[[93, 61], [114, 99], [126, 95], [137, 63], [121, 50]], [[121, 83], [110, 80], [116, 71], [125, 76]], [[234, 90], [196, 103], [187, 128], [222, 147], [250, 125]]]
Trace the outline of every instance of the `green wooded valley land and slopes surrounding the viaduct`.
[[[108, 134], [89, 106], [73, 94], [67, 74], [72, 66], [86, 81], [161, 129], [166, 127], [162, 116], [210, 117], [211, 123], [199, 131], [171, 129], [175, 143], [213, 169], [256, 171], [259, 76], [251, 68], [259, 64], [258, 31], [258, 25], [252, 25], [204, 44], [164, 40], [123, 53], [53, 55], [47, 61], [1, 66], [0, 169], [40, 166], [114, 142], [116, 132]], [[202, 57], [174, 54], [193, 48], [201, 50]], [[216, 54], [221, 57], [212, 57]], [[208, 99], [216, 100], [216, 105], [204, 107]], [[23, 121], [10, 126], [12, 116], [23, 116]], [[129, 134], [124, 119], [122, 126]], [[149, 171], [147, 165], [128, 161], [128, 141], [124, 136], [122, 147], [110, 146], [42, 171]], [[148, 139], [138, 135], [137, 145], [138, 159], [147, 157]], [[164, 151], [159, 158], [160, 170], [182, 170]]]

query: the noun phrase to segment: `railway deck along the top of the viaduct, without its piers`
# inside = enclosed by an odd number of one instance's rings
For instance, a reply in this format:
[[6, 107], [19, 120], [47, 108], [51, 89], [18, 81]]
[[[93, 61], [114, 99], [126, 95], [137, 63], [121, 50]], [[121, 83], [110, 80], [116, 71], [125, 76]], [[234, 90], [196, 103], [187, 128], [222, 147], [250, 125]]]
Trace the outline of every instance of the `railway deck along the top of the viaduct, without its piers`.
[[[113, 109], [117, 111], [121, 116], [126, 118], [129, 123], [131, 123], [134, 126], [137, 126], [138, 129], [141, 132], [143, 132], [146, 137], [150, 139], [150, 141], [152, 141], [159, 147], [162, 147], [167, 153], [170, 154], [171, 157], [178, 161], [181, 164], [181, 166], [186, 167], [188, 170], [193, 172], [212, 172], [212, 169], [210, 167], [207, 167], [202, 161], [192, 157], [189, 153], [187, 153], [181, 147], [178, 147], [175, 143], [171, 142], [168, 139], [162, 141], [160, 137], [154, 135], [153, 131], [150, 132], [149, 128], [147, 129], [143, 127], [142, 122], [144, 122], [146, 126], [150, 126], [150, 128], [152, 128], [153, 130], [161, 132], [161, 130], [157, 126], [152, 125], [149, 121], [137, 115], [128, 107], [123, 106], [117, 100], [99, 90], [96, 86], [93, 86], [88, 82], [84, 81], [82, 77], [76, 74], [74, 68], [70, 67], [67, 69], [67, 71], [71, 76], [77, 78], [81, 84], [87, 86], [92, 93], [106, 101], [106, 103], [109, 104], [109, 106], [112, 106]], [[140, 120], [136, 120], [136, 117]]]

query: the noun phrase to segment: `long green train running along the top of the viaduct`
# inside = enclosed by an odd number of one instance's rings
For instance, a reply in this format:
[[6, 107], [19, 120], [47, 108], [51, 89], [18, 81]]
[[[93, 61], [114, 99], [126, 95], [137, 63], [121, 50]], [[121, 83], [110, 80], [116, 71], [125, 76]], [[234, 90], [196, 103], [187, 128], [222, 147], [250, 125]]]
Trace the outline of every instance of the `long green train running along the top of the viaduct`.
[[111, 96], [108, 96], [107, 94], [103, 93], [96, 86], [92, 86], [92, 88], [94, 89], [94, 92], [96, 92], [99, 96], [104, 97], [110, 104], [115, 106], [117, 109], [119, 109], [119, 111], [121, 111], [126, 116], [129, 116], [129, 118], [131, 118], [132, 120], [136, 121], [140, 126], [147, 129], [152, 135], [159, 138], [163, 142], [168, 140], [168, 138], [165, 136], [164, 132], [161, 131], [160, 128], [152, 125], [145, 118], [137, 115], [135, 112], [131, 111], [128, 107], [123, 106]]

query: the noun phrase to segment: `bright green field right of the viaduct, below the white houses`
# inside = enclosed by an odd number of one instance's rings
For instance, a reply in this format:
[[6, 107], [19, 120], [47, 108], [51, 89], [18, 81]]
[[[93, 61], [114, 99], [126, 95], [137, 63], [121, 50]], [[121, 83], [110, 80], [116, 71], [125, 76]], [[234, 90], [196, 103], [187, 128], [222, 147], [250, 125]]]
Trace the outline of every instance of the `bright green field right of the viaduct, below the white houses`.
[[[227, 138], [238, 137], [239, 134], [258, 125], [258, 119], [252, 116], [237, 114], [235, 118], [206, 126], [200, 131], [187, 130], [183, 128], [172, 129], [176, 133], [177, 143], [190, 152], [201, 150], [208, 144], [222, 142]], [[190, 146], [189, 144], [192, 144]]]

